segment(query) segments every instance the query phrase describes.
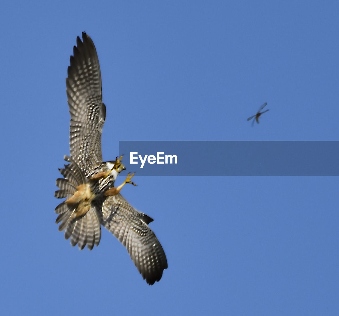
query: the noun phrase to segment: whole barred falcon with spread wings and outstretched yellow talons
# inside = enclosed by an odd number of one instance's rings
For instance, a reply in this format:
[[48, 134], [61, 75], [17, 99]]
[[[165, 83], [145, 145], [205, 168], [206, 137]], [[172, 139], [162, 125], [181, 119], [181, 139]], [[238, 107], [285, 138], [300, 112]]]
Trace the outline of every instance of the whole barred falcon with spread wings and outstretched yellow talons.
[[167, 268], [160, 242], [148, 227], [153, 219], [133, 208], [119, 193], [126, 183], [135, 185], [128, 174], [118, 187], [119, 173], [125, 169], [121, 157], [102, 161], [101, 133], [106, 117], [102, 102], [98, 55], [92, 39], [77, 37], [67, 70], [66, 92], [71, 114], [69, 162], [59, 169], [64, 178], [56, 180], [55, 197], [66, 198], [56, 208], [59, 231], [80, 250], [92, 250], [101, 238], [101, 225], [127, 248], [139, 273], [148, 284], [159, 281]]

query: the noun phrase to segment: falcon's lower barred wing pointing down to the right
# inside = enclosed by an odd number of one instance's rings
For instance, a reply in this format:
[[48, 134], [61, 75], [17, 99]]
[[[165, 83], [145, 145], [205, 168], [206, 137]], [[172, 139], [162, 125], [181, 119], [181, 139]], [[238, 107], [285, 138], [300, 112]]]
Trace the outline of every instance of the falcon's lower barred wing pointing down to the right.
[[167, 259], [162, 246], [148, 227], [153, 219], [138, 212], [119, 193], [102, 204], [102, 225], [127, 248], [139, 273], [148, 284], [159, 281]]

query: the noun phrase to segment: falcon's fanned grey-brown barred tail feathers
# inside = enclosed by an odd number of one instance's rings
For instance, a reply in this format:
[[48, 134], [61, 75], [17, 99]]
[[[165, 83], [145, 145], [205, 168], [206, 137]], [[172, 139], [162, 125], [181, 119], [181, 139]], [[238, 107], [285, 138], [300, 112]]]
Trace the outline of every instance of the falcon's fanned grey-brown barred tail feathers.
[[[58, 199], [70, 198], [77, 191], [77, 186], [87, 183], [86, 177], [73, 159], [64, 156], [68, 165], [64, 169], [59, 169], [64, 178], [59, 178], [56, 185], [60, 190], [54, 196]], [[94, 245], [98, 245], [101, 238], [101, 227], [98, 212], [92, 205], [86, 214], [75, 217], [76, 204], [67, 204], [65, 201], [55, 208], [55, 213], [59, 214], [56, 223], [60, 223], [59, 231], [65, 230], [65, 239], [71, 237], [71, 245], [78, 244], [79, 249], [87, 248], [92, 250]]]

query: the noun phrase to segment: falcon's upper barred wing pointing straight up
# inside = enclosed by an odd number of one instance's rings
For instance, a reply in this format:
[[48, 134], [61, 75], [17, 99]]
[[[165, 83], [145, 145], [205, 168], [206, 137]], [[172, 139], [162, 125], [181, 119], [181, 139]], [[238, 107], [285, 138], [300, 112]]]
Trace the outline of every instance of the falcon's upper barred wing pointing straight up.
[[106, 107], [102, 103], [97, 51], [86, 33], [82, 33], [82, 41], [77, 37], [77, 46], [73, 48], [67, 75], [71, 158], [87, 174], [91, 166], [102, 162], [101, 133]]

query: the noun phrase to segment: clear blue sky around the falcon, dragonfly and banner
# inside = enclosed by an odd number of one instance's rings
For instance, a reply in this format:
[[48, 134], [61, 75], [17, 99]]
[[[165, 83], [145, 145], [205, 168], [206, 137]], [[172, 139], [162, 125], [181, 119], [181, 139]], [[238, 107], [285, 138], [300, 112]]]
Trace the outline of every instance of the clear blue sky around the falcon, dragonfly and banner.
[[338, 1], [3, 3], [1, 313], [338, 315], [338, 177], [136, 175], [122, 193], [168, 259], [153, 286], [107, 231], [79, 251], [54, 223], [82, 31], [111, 160], [119, 140], [339, 140], [338, 16]]

